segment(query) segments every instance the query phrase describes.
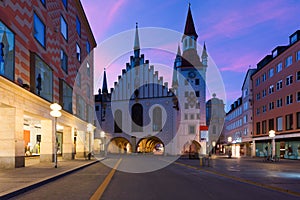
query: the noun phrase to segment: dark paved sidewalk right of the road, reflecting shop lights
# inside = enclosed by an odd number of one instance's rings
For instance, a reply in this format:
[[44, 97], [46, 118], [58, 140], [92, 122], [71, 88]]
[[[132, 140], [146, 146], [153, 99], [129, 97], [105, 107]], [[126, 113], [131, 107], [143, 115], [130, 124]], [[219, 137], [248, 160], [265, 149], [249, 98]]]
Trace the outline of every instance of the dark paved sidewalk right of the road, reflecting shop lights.
[[215, 156], [209, 166], [200, 166], [199, 160], [178, 160], [209, 173], [251, 183], [264, 188], [300, 196], [300, 161], [281, 159], [279, 162], [263, 158], [227, 158]]

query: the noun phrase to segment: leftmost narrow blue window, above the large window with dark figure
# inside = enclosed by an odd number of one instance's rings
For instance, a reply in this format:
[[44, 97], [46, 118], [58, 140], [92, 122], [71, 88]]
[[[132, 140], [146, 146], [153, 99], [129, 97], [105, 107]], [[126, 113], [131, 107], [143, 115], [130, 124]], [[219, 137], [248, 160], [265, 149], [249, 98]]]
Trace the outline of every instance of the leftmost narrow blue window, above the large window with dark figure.
[[43, 47], [46, 46], [46, 26], [35, 13], [33, 14], [33, 36]]

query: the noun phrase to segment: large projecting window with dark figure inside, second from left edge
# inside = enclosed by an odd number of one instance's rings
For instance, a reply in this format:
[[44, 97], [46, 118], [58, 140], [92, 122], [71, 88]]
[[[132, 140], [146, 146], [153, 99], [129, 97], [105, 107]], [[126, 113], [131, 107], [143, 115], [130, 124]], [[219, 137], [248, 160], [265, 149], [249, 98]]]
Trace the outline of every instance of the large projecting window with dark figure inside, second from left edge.
[[52, 102], [53, 100], [53, 72], [52, 69], [36, 54], [31, 54], [30, 85], [32, 92]]

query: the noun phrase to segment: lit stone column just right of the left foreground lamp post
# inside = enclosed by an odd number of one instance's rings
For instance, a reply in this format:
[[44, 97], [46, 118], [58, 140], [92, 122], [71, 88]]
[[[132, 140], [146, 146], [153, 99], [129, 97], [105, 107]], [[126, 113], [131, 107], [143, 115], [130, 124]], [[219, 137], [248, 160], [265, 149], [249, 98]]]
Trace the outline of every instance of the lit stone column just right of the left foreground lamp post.
[[62, 150], [63, 159], [71, 160], [73, 158], [72, 127], [64, 127]]

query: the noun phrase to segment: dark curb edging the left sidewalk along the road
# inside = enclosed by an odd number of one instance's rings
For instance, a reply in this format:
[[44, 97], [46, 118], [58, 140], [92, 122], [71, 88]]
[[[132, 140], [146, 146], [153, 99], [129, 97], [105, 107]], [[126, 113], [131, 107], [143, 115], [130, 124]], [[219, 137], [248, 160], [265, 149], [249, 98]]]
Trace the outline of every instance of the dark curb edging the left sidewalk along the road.
[[38, 187], [40, 187], [42, 185], [45, 185], [45, 184], [50, 183], [52, 181], [55, 181], [55, 180], [57, 180], [59, 178], [62, 178], [64, 176], [68, 175], [68, 174], [71, 174], [73, 172], [79, 171], [79, 170], [81, 170], [83, 168], [86, 168], [86, 167], [91, 166], [91, 165], [93, 165], [95, 163], [98, 163], [98, 162], [100, 162], [100, 160], [95, 160], [93, 162], [81, 165], [79, 167], [75, 167], [73, 169], [69, 169], [69, 170], [64, 171], [64, 172], [60, 172], [60, 173], [58, 173], [56, 175], [53, 175], [53, 176], [50, 176], [50, 177], [46, 177], [46, 178], [44, 178], [42, 180], [39, 180], [39, 181], [36, 181], [36, 182], [33, 182], [33, 183], [29, 183], [28, 186], [25, 186], [25, 187], [22, 187], [22, 188], [18, 188], [18, 189], [14, 190], [14, 191], [9, 191], [6, 194], [4, 192], [4, 194], [3, 193], [1, 194], [0, 199], [1, 200], [10, 199], [12, 197], [15, 197], [17, 195], [23, 194], [23, 193], [28, 192], [28, 191], [30, 191], [32, 189], [38, 188]]

